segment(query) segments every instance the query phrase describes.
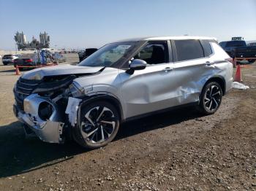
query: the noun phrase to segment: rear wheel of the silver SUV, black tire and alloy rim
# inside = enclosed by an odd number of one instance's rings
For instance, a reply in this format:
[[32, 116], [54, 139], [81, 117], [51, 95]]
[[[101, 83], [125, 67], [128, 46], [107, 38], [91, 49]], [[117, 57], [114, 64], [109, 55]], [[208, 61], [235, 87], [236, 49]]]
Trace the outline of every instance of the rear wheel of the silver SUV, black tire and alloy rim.
[[222, 87], [217, 82], [208, 82], [200, 95], [198, 109], [203, 114], [214, 114], [222, 103]]

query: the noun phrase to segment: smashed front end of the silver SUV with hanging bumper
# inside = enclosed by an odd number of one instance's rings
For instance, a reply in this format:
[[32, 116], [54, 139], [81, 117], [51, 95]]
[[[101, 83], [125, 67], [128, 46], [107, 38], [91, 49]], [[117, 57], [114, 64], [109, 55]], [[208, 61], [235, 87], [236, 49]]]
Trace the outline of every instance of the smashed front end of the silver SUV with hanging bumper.
[[72, 97], [83, 95], [83, 90], [73, 82], [75, 78], [75, 75], [62, 75], [40, 80], [18, 79], [13, 110], [24, 123], [26, 133], [33, 133], [50, 143], [64, 142], [69, 126], [76, 123], [77, 110], [74, 108], [80, 102]]

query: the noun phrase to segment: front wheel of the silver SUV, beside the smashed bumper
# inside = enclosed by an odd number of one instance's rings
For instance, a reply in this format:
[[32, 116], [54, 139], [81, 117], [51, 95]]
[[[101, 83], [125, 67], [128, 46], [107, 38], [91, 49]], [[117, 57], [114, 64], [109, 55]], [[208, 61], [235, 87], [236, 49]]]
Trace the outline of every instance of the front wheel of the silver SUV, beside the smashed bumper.
[[112, 104], [107, 101], [95, 101], [82, 105], [78, 112], [78, 125], [74, 128], [73, 136], [82, 147], [104, 147], [116, 137], [120, 118]]

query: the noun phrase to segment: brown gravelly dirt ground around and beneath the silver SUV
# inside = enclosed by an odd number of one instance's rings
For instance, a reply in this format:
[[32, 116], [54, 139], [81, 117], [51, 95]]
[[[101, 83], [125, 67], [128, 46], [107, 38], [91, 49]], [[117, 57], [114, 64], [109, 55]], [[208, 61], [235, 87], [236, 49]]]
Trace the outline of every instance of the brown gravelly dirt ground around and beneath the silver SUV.
[[[67, 55], [76, 62], [77, 55]], [[178, 109], [121, 125], [87, 150], [25, 139], [12, 114], [13, 66], [0, 65], [0, 190], [256, 190], [256, 64], [249, 90], [230, 90], [218, 112]]]

